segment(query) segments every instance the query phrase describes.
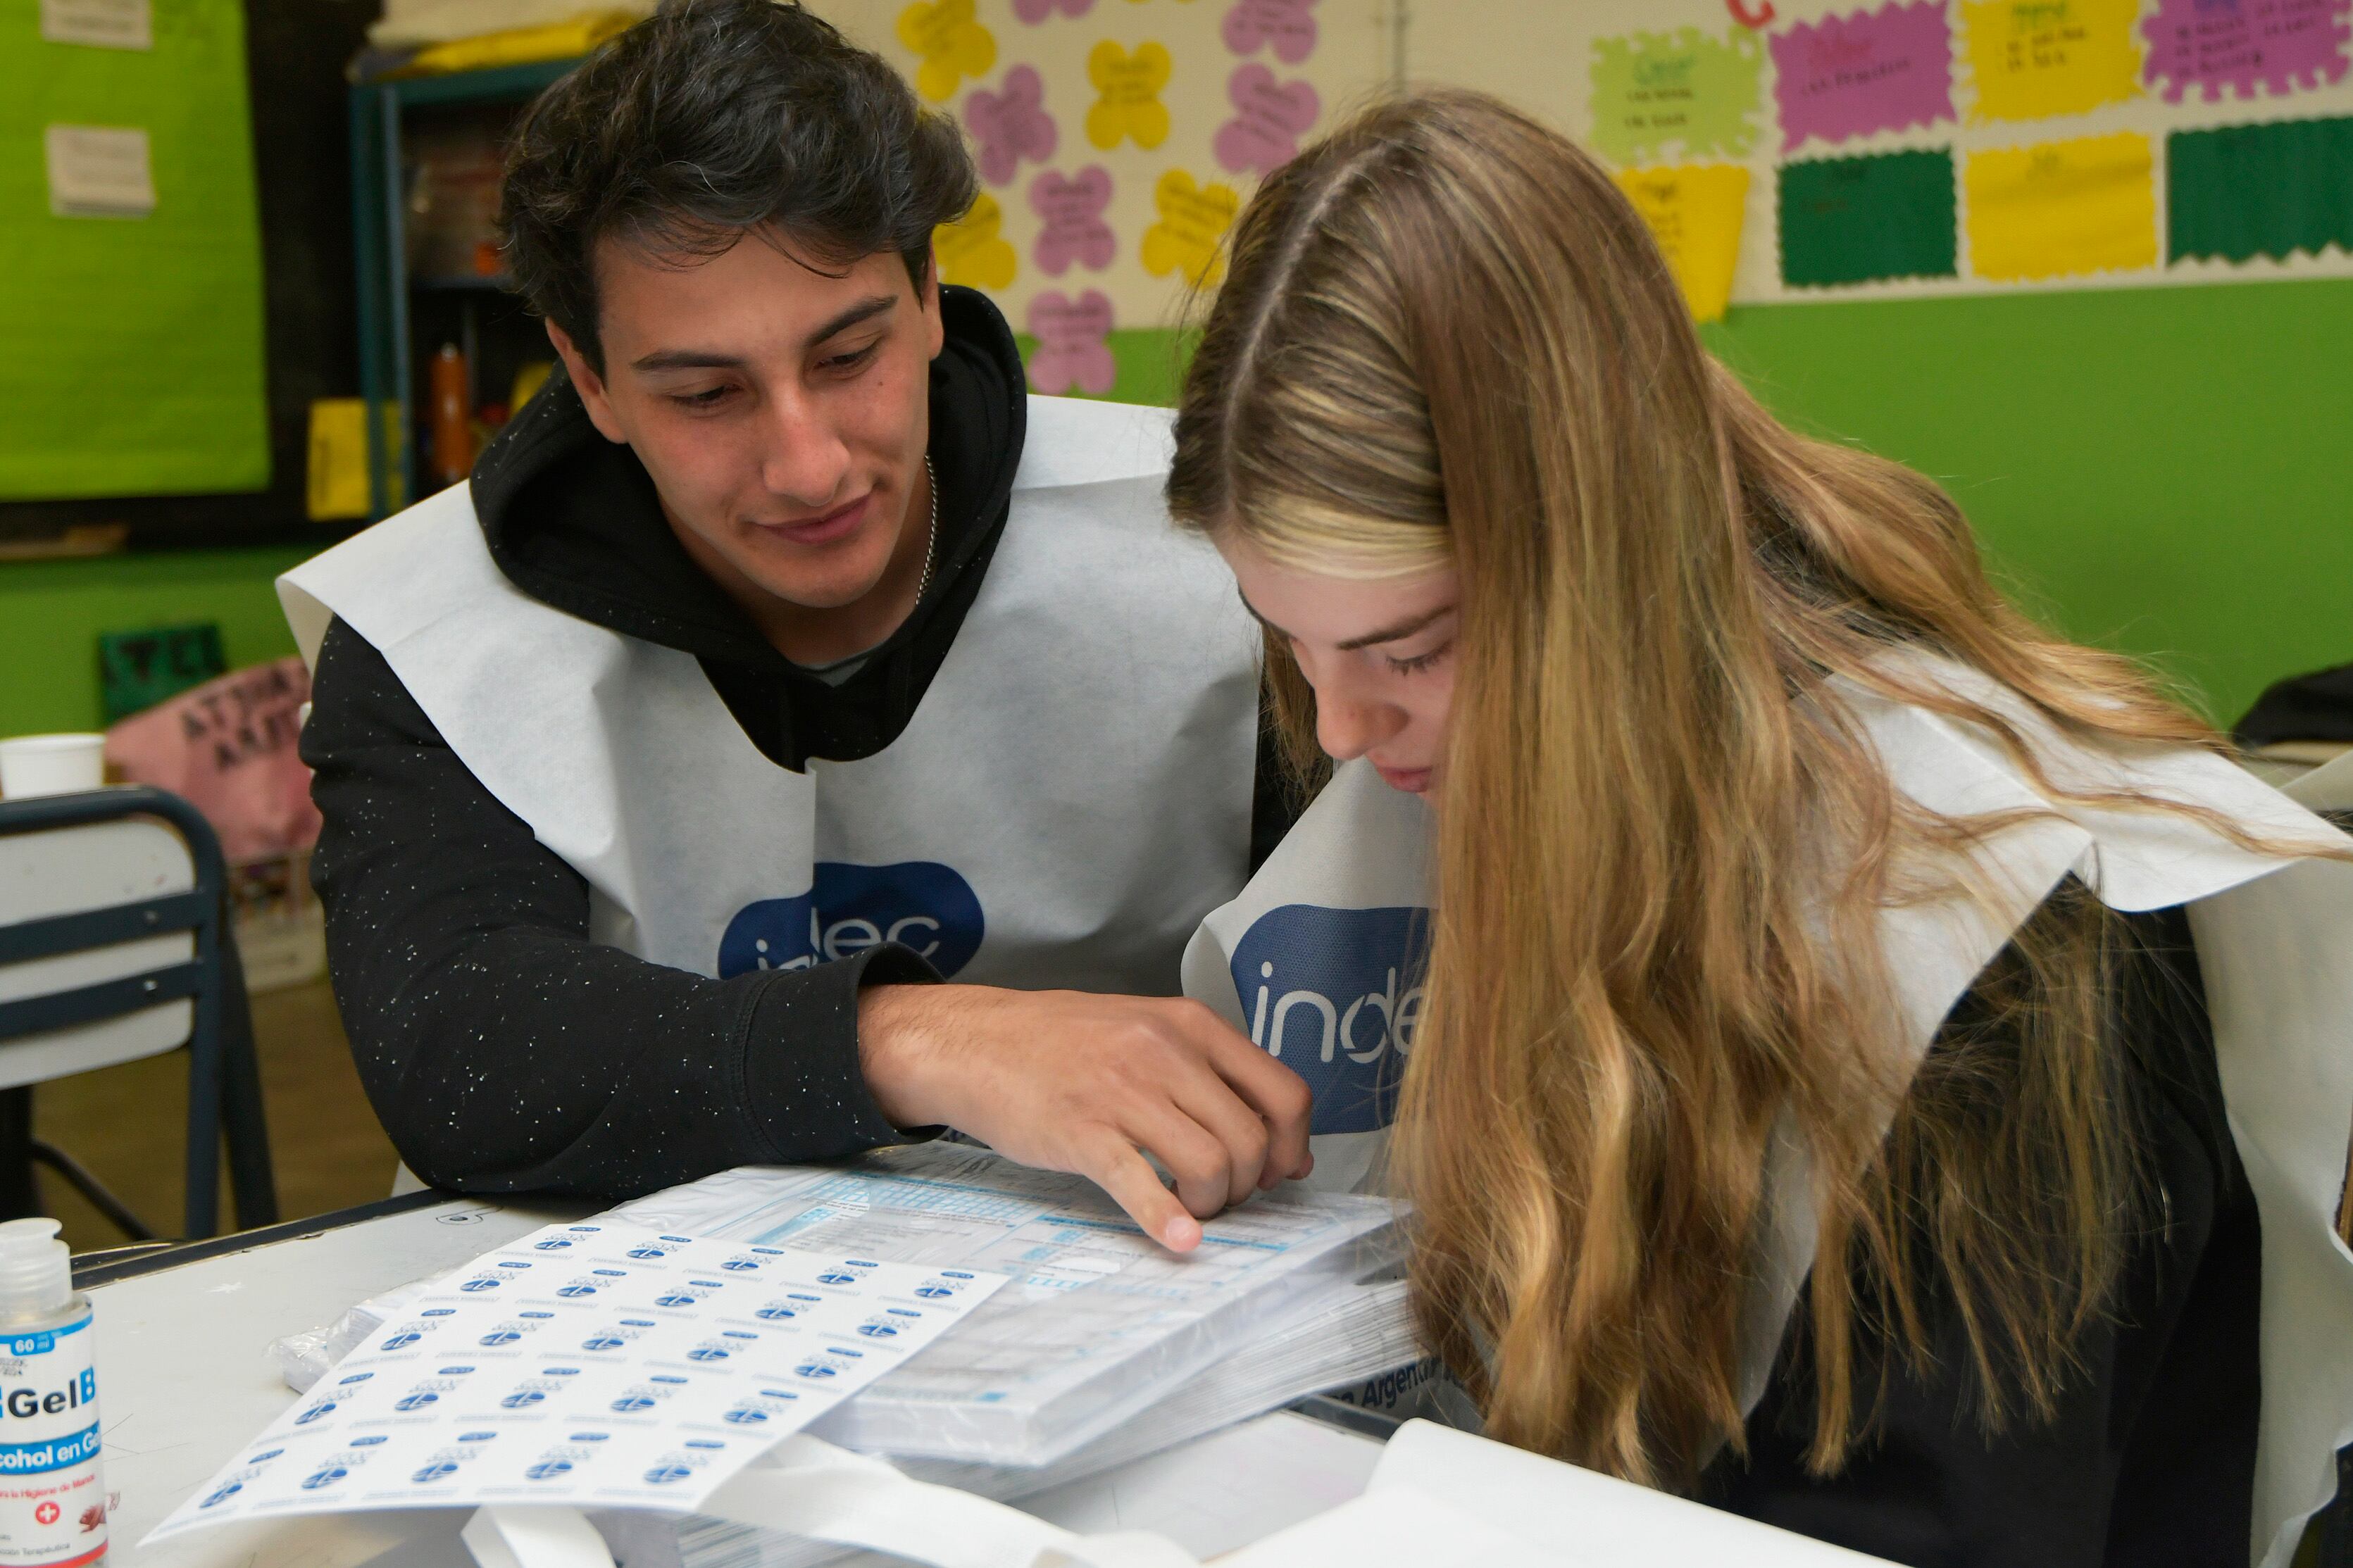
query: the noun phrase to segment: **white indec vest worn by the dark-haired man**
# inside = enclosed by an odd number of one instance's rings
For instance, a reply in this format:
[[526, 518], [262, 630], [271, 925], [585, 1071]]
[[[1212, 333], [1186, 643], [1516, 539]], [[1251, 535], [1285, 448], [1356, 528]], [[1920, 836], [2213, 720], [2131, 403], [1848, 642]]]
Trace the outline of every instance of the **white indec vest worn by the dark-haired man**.
[[289, 571], [306, 658], [365, 637], [591, 886], [591, 933], [704, 976], [882, 940], [984, 985], [1172, 994], [1249, 865], [1257, 635], [1167, 520], [1162, 409], [1031, 397], [1012, 515], [906, 731], [807, 773], [692, 654], [520, 592], [464, 484]]

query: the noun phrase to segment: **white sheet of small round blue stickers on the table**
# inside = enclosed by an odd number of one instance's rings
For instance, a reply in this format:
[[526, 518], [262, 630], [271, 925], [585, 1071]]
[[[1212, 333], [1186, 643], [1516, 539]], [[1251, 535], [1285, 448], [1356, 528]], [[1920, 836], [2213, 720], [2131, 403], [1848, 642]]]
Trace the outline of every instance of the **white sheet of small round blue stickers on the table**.
[[692, 1512], [1000, 1284], [551, 1225], [384, 1324], [148, 1542], [231, 1519], [395, 1507]]

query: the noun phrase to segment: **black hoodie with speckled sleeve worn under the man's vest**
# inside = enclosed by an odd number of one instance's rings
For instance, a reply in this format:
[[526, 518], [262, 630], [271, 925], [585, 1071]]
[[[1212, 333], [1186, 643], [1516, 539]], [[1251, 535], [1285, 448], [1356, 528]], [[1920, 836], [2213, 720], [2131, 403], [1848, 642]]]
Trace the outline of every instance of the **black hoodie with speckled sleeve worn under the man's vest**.
[[[635, 454], [605, 442], [560, 378], [475, 465], [492, 557], [544, 604], [694, 654], [779, 766], [882, 750], [955, 642], [1021, 463], [1024, 374], [1005, 317], [969, 289], [941, 289], [941, 315], [932, 588], [840, 686], [776, 654], [694, 567]], [[311, 879], [336, 1004], [360, 1081], [424, 1180], [628, 1197], [906, 1140], [859, 1074], [856, 994], [932, 978], [922, 959], [873, 947], [713, 980], [588, 940], [581, 875], [482, 788], [341, 621], [320, 646], [301, 755], [325, 816]], [[1261, 752], [1252, 865], [1289, 825], [1275, 780]]]

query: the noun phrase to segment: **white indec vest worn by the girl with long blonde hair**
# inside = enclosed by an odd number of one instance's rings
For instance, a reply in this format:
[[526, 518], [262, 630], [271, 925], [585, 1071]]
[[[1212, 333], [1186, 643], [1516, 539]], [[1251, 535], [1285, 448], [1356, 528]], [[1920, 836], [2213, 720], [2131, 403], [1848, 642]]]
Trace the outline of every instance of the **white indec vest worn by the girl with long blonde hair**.
[[[1911, 799], [1948, 816], [2033, 813], [1979, 846], [1979, 898], [1880, 917], [1911, 1060], [2068, 872], [2115, 910], [2188, 905], [2231, 1133], [2264, 1225], [2249, 1561], [2282, 1568], [2304, 1521], [2337, 1490], [2337, 1450], [2353, 1443], [2353, 1251], [2337, 1237], [2353, 1135], [2353, 865], [2294, 853], [2346, 846], [2299, 799], [2353, 806], [2353, 757], [2297, 780], [2289, 799], [2209, 752], [2127, 759], [2087, 750], [1986, 677], [1946, 663], [1932, 672], [2005, 712], [2061, 785], [2205, 804], [2289, 846], [2287, 856], [2254, 856], [2179, 816], [2049, 799], [1984, 731], [1838, 682]], [[1315, 1086], [1318, 1185], [1381, 1180], [1395, 1074], [1419, 1006], [1424, 867], [1421, 804], [1391, 792], [1365, 764], [1344, 766], [1186, 950], [1186, 992]], [[1805, 1150], [1784, 1128], [1767, 1171], [1765, 1279], [1746, 1312], [1751, 1408], [1814, 1260], [1807, 1194]]]

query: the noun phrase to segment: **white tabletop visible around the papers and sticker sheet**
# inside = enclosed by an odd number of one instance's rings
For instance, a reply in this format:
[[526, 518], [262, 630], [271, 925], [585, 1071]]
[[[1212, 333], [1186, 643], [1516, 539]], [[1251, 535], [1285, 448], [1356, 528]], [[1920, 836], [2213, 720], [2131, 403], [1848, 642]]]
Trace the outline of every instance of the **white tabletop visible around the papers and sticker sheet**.
[[[351, 1302], [454, 1269], [586, 1206], [414, 1194], [252, 1237], [172, 1248], [92, 1284], [115, 1561], [139, 1568], [466, 1568], [464, 1509], [224, 1526], [139, 1549], [292, 1399], [268, 1347]], [[1019, 1507], [1073, 1530], [1160, 1530], [1228, 1552], [1365, 1488], [1381, 1448], [1275, 1413]]]

